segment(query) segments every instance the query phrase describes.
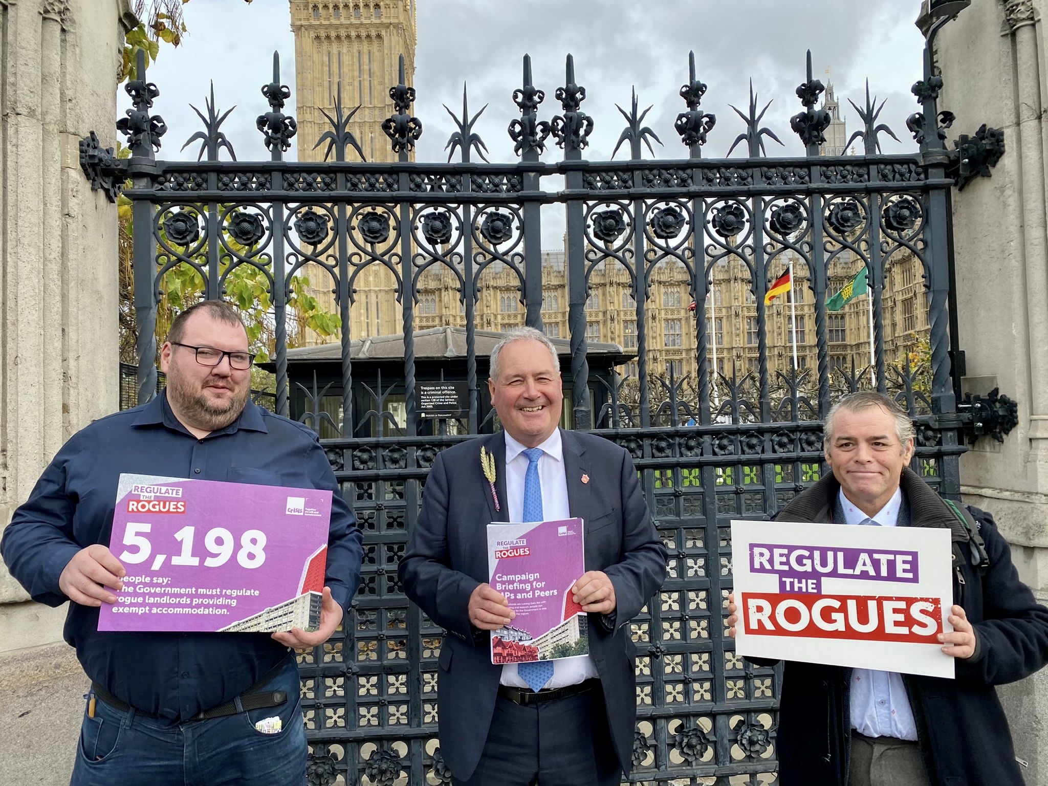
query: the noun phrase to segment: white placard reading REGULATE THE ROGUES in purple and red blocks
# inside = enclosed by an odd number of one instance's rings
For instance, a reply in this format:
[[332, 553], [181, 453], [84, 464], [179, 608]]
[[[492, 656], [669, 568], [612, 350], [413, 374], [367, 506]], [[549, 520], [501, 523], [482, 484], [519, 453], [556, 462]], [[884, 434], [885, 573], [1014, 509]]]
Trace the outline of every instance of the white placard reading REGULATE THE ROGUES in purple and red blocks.
[[735, 649], [954, 677], [951, 530], [733, 521]]

